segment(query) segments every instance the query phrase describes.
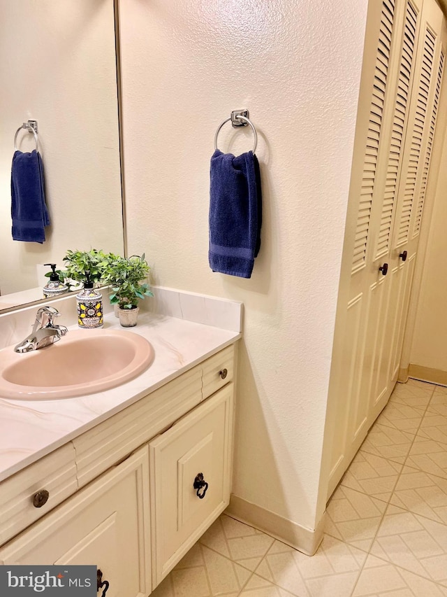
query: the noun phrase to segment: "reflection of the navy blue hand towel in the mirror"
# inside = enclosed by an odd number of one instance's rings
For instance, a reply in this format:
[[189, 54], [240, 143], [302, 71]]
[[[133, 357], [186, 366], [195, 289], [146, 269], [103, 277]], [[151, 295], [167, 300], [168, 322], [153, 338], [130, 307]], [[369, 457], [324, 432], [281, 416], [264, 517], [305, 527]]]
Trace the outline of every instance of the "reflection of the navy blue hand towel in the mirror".
[[36, 151], [13, 155], [11, 169], [11, 216], [13, 239], [43, 243], [44, 227], [50, 224], [43, 182], [43, 163]]

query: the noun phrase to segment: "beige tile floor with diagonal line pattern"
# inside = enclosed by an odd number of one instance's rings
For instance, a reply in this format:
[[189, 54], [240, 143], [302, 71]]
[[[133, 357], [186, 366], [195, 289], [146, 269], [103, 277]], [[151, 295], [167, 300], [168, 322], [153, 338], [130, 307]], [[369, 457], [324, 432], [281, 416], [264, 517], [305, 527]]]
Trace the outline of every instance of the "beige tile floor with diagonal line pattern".
[[310, 558], [223, 514], [152, 597], [447, 597], [447, 388], [397, 384]]

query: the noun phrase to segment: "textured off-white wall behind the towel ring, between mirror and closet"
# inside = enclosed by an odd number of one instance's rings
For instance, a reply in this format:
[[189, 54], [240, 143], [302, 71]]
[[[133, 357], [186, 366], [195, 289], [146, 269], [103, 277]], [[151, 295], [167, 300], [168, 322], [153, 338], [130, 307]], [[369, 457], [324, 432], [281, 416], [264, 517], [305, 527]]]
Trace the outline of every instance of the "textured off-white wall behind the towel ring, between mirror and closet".
[[[119, 6], [129, 251], [156, 283], [244, 302], [233, 492], [314, 528], [367, 0]], [[214, 132], [239, 108], [263, 183], [249, 280], [207, 263]]]

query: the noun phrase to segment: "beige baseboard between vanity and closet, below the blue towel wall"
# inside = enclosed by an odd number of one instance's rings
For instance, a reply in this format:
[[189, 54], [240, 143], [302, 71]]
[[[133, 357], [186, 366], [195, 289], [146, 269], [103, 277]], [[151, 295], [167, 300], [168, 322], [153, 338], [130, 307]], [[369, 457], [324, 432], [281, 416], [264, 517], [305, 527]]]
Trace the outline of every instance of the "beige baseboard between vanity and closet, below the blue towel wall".
[[225, 513], [258, 528], [259, 531], [271, 535], [308, 556], [314, 555], [323, 540], [325, 515], [318, 523], [317, 528], [313, 530], [234, 495], [231, 496], [230, 505]]

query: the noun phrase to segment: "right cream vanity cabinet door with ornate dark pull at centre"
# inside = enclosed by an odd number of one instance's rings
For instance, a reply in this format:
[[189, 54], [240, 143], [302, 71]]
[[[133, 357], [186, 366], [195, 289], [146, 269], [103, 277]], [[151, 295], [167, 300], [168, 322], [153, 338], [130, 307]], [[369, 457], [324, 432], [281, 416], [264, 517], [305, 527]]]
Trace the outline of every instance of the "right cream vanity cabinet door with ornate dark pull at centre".
[[[232, 425], [227, 384], [149, 443], [153, 588], [228, 505]], [[203, 498], [193, 488], [198, 473], [208, 483]]]

